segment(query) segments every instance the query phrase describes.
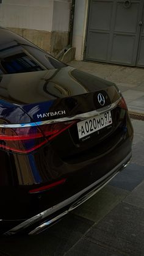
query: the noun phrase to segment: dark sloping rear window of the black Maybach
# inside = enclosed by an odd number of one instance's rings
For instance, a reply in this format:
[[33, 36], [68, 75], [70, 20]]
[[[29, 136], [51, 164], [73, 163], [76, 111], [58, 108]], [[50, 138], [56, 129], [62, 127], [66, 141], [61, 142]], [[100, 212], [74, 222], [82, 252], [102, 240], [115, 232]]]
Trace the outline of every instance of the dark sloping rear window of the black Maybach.
[[0, 75], [62, 68], [67, 65], [23, 37], [0, 28]]

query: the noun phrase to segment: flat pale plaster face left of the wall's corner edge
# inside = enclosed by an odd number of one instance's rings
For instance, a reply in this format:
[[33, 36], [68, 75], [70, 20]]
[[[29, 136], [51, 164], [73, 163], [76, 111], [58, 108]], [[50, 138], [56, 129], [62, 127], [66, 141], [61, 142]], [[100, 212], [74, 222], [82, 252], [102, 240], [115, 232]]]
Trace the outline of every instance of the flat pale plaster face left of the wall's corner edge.
[[52, 30], [52, 0], [3, 0], [1, 26]]

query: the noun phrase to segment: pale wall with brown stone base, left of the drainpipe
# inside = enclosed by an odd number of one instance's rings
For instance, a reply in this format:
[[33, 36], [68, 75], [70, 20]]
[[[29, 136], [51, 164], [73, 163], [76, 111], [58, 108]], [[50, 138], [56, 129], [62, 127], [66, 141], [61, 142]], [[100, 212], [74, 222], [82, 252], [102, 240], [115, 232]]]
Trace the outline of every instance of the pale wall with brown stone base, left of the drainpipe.
[[71, 0], [2, 0], [0, 25], [56, 55], [68, 45]]

